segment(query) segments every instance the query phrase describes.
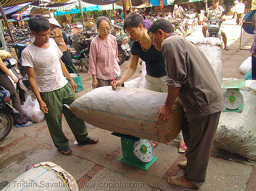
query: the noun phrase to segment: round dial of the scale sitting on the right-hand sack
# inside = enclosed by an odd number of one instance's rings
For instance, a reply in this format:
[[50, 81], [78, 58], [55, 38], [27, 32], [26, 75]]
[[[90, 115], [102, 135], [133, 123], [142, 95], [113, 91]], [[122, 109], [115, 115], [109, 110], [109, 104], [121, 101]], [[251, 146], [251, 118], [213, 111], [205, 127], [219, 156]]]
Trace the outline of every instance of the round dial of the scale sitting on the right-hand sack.
[[238, 89], [228, 89], [223, 93], [223, 99], [227, 109], [238, 109], [244, 102], [243, 95]]

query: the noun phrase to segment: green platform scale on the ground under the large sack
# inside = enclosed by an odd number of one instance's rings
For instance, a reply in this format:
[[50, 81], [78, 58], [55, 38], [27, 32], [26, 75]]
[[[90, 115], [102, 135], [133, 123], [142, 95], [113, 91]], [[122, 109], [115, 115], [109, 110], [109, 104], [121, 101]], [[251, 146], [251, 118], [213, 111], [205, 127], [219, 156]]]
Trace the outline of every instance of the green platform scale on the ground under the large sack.
[[113, 132], [121, 137], [122, 158], [119, 161], [142, 170], [147, 170], [156, 161], [154, 147], [150, 140]]

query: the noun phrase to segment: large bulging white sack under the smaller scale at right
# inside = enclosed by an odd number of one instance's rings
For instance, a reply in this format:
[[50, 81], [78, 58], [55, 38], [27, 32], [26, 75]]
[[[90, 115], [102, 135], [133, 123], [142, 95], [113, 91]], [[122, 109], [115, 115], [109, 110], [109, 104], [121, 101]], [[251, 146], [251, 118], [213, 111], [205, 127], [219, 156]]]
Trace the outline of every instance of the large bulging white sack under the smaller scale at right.
[[244, 97], [243, 112], [222, 112], [214, 145], [256, 160], [256, 93], [249, 88], [240, 90]]

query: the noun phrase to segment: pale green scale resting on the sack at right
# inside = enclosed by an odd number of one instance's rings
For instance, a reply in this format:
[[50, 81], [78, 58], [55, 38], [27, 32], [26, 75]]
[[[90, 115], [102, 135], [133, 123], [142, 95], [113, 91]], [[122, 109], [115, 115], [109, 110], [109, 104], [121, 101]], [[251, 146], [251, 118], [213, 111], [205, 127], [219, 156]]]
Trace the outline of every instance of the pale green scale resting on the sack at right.
[[242, 112], [244, 107], [244, 98], [240, 88], [245, 87], [245, 79], [223, 80], [221, 88], [227, 89], [223, 93], [224, 107], [223, 111]]

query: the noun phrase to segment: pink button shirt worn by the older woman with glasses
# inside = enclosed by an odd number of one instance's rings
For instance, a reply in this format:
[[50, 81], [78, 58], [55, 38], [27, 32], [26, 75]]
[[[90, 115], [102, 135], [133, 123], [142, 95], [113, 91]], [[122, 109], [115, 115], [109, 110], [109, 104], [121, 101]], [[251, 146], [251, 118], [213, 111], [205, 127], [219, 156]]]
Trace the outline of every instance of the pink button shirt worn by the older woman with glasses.
[[93, 38], [90, 46], [88, 74], [96, 75], [98, 79], [112, 80], [119, 77], [121, 69], [118, 65], [118, 47], [116, 37], [109, 34], [108, 41]]

